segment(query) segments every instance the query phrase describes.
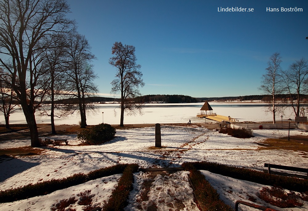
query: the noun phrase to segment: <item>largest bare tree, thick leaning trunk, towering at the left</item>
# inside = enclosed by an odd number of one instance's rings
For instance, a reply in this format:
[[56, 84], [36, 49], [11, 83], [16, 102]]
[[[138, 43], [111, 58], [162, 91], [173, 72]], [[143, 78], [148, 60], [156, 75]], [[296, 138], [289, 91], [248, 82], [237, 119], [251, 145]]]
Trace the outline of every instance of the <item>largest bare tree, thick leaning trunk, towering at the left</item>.
[[[31, 146], [39, 146], [35, 110], [45, 100], [50, 74], [42, 65], [39, 41], [52, 32], [68, 30], [71, 21], [65, 18], [69, 5], [64, 0], [1, 0], [0, 58], [11, 74], [11, 84], [20, 100], [30, 128]], [[48, 85], [49, 86], [49, 85]]]

